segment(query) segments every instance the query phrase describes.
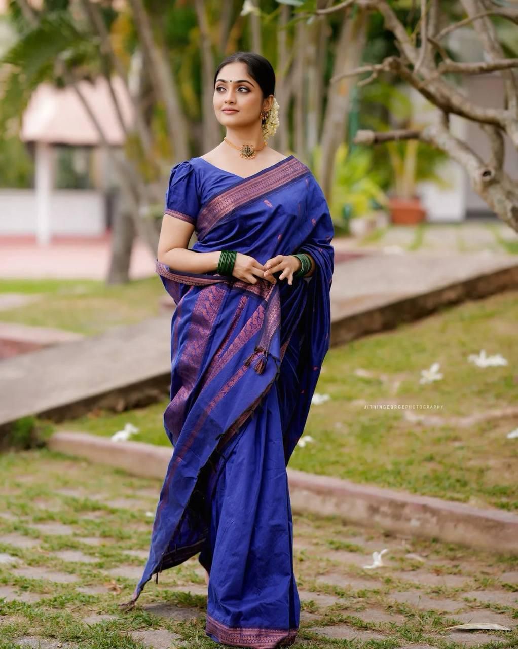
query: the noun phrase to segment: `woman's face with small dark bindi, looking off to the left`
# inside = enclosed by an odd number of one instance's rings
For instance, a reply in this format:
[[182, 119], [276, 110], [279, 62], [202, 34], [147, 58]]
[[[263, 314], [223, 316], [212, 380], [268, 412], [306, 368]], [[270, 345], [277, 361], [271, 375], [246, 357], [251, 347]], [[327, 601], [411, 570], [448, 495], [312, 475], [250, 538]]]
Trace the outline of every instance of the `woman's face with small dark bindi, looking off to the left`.
[[[247, 72], [245, 63], [233, 62], [222, 67], [214, 86], [214, 112], [219, 123], [226, 127], [243, 127], [260, 122], [261, 111], [267, 110], [271, 100], [262, 99], [262, 90]], [[235, 112], [224, 112], [233, 108]]]

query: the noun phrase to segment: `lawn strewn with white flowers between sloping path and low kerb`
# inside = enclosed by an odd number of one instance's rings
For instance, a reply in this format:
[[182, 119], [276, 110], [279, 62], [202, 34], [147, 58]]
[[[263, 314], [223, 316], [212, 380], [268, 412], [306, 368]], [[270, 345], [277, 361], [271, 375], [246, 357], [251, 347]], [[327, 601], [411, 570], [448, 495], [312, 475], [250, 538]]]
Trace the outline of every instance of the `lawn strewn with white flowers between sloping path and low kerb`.
[[[314, 441], [295, 449], [290, 467], [480, 507], [518, 509], [518, 438], [506, 437], [518, 417], [467, 427], [454, 421], [518, 406], [517, 322], [514, 291], [330, 349], [317, 386], [330, 400], [312, 405], [304, 435]], [[508, 365], [476, 367], [467, 357], [481, 349], [502, 354]], [[443, 378], [419, 384], [421, 370], [434, 362]], [[441, 421], [408, 421], [403, 410], [365, 408], [373, 404], [436, 404], [440, 408], [411, 413]], [[132, 440], [169, 446], [162, 427], [166, 406], [164, 400], [124, 413], [93, 411], [54, 430], [112, 435], [130, 422], [140, 429]]]

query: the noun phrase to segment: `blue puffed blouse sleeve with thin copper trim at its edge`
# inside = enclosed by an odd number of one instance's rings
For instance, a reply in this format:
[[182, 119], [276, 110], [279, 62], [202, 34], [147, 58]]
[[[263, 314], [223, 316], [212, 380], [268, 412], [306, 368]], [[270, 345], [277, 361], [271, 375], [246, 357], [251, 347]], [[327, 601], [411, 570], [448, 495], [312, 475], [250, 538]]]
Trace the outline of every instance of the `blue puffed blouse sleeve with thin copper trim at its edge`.
[[188, 160], [179, 162], [171, 169], [164, 214], [196, 225], [200, 207], [195, 169]]

